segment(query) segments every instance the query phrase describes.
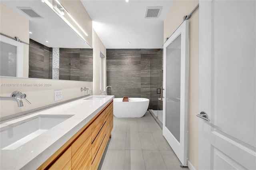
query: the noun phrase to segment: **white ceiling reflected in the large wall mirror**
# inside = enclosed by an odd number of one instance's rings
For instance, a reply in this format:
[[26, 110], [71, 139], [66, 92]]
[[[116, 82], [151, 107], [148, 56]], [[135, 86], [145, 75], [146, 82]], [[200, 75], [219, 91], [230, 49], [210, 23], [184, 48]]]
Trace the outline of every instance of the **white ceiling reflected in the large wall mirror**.
[[[1, 0], [1, 3], [29, 20], [29, 30], [33, 33], [30, 34], [32, 40], [47, 47], [91, 48], [41, 0]], [[31, 18], [17, 7], [31, 7], [43, 18]]]

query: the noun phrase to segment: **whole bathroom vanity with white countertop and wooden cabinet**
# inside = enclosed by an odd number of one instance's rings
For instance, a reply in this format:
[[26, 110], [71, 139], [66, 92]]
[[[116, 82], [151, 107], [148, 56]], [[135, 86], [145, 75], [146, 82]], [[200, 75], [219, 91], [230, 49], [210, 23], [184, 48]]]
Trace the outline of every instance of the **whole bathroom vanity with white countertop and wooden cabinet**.
[[113, 98], [85, 97], [1, 123], [1, 132], [6, 130], [15, 138], [23, 133], [17, 130], [26, 129], [26, 124], [32, 129], [31, 122], [36, 119], [46, 119], [44, 124], [61, 120], [24, 144], [1, 146], [0, 169], [97, 169], [111, 137]]

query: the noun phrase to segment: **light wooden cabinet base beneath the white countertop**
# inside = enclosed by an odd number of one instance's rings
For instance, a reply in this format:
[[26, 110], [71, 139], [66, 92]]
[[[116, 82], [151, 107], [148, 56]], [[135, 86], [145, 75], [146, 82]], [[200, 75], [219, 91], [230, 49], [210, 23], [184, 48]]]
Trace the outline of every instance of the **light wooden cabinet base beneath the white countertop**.
[[[113, 128], [113, 101], [38, 169], [96, 170]], [[66, 148], [63, 150], [63, 148]], [[59, 156], [57, 156], [59, 155]]]

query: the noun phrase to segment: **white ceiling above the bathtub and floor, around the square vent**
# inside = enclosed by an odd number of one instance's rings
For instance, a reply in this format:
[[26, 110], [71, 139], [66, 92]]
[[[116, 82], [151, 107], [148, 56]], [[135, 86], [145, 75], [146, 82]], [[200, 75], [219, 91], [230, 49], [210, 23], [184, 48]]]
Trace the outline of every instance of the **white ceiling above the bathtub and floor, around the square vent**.
[[[162, 48], [164, 18], [173, 0], [81, 0], [107, 49]], [[158, 18], [145, 18], [147, 6], [162, 6]], [[128, 43], [130, 42], [130, 43]]]

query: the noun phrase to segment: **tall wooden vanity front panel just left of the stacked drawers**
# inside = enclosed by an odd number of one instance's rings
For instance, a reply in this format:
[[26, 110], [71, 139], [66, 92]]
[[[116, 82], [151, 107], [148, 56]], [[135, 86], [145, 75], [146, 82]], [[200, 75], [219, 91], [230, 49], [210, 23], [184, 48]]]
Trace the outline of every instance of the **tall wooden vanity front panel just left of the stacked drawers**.
[[72, 169], [91, 169], [91, 145], [92, 145], [92, 129], [89, 126], [71, 145], [72, 148]]

